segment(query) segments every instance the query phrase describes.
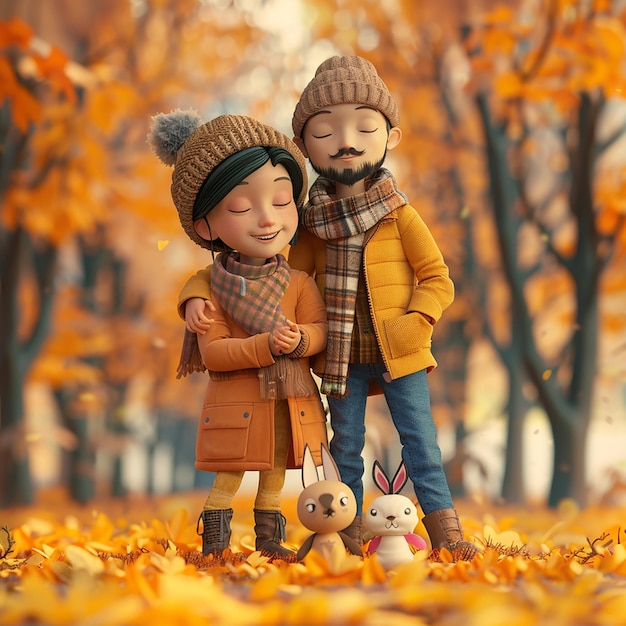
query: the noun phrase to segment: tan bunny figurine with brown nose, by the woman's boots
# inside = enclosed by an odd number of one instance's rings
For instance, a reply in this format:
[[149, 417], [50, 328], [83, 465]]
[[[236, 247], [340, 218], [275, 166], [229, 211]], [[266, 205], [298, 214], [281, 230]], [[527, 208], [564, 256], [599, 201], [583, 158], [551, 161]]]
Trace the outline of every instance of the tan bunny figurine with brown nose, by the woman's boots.
[[332, 560], [335, 550], [345, 554], [363, 555], [357, 541], [341, 532], [356, 516], [356, 498], [348, 485], [341, 482], [339, 470], [328, 448], [322, 444], [322, 470], [320, 480], [311, 449], [304, 447], [302, 461], [302, 485], [304, 490], [298, 497], [298, 519], [313, 534], [309, 535], [298, 550], [301, 561], [311, 550], [319, 552], [327, 561]]

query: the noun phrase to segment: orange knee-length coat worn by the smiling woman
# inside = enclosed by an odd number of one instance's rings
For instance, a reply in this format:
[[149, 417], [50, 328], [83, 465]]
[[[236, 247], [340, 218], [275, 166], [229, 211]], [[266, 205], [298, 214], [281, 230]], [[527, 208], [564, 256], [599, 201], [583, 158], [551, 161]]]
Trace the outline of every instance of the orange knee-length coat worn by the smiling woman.
[[[288, 468], [302, 465], [306, 443], [317, 451], [327, 444], [326, 415], [317, 385], [311, 376], [309, 357], [326, 347], [328, 324], [324, 301], [313, 279], [291, 270], [289, 287], [281, 301], [285, 315], [303, 334], [303, 355], [295, 359], [315, 392], [288, 398], [292, 446]], [[269, 333], [249, 335], [219, 305], [213, 323], [198, 335], [209, 381], [198, 425], [195, 467], [207, 471], [272, 469], [274, 460], [274, 400], [261, 399], [258, 369], [274, 363]]]

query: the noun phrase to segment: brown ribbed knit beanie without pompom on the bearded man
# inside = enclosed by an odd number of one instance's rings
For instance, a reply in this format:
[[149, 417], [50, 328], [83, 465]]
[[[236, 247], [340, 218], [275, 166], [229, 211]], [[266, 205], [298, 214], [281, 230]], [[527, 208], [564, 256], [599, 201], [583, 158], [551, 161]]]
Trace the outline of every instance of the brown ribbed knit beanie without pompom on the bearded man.
[[392, 126], [400, 124], [398, 105], [372, 63], [358, 56], [334, 56], [304, 88], [291, 121], [294, 135], [301, 137], [307, 120], [324, 107], [352, 102], [374, 107]]

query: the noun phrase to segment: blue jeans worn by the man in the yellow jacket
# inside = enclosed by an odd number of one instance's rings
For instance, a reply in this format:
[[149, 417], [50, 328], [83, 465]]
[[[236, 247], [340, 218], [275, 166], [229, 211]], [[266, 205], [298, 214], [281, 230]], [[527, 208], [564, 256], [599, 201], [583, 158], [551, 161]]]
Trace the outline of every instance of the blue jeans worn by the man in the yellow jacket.
[[[348, 390], [342, 398], [328, 397], [333, 438], [330, 452], [341, 479], [354, 492], [357, 515], [363, 514], [363, 457], [365, 446], [365, 404], [370, 380], [377, 380], [385, 394], [391, 419], [400, 436], [415, 495], [425, 515], [453, 508], [448, 481], [441, 463], [437, 430], [430, 410], [426, 370], [397, 378], [383, 379], [382, 363], [350, 365]], [[396, 468], [384, 468], [391, 479]]]

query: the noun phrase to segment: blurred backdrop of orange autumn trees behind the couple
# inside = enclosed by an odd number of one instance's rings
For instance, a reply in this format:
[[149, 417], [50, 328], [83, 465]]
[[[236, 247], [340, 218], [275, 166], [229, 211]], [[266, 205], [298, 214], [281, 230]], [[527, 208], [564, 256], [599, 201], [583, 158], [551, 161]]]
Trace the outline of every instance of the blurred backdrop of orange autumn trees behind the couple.
[[[429, 376], [454, 495], [626, 502], [625, 2], [0, 0], [0, 507], [210, 485], [204, 379], [176, 379], [210, 258], [146, 134], [180, 107], [291, 136], [334, 54], [396, 97], [387, 166], [456, 284]], [[367, 427], [393, 471], [380, 398]]]

